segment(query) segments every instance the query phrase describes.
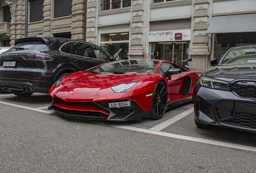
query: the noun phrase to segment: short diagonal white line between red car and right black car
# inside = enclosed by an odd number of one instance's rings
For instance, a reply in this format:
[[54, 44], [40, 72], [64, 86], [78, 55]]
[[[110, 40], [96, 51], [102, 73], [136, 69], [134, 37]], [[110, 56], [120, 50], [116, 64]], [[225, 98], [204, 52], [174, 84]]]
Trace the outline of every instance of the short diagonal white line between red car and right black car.
[[172, 123], [175, 123], [176, 121], [182, 119], [183, 117], [186, 117], [188, 114], [194, 112], [194, 107], [191, 108], [191, 109], [188, 109], [187, 111], [179, 114], [179, 115], [176, 115], [175, 117], [172, 117], [171, 119], [159, 124], [159, 125], [156, 125], [155, 127], [152, 127], [151, 129], [149, 130], [154, 130], [154, 131], [161, 131], [163, 130], [165, 127], [168, 127], [169, 125], [171, 125]]

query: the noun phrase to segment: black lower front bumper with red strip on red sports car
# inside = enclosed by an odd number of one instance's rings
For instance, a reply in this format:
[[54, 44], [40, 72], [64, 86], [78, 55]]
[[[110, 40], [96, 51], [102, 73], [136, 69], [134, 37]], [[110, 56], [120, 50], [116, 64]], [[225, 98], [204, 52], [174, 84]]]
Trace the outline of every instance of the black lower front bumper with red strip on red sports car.
[[[130, 107], [109, 108], [109, 103], [130, 101]], [[104, 102], [65, 102], [53, 98], [48, 107], [58, 116], [78, 120], [130, 121], [149, 117], [149, 111], [143, 111], [134, 100], [115, 100]]]

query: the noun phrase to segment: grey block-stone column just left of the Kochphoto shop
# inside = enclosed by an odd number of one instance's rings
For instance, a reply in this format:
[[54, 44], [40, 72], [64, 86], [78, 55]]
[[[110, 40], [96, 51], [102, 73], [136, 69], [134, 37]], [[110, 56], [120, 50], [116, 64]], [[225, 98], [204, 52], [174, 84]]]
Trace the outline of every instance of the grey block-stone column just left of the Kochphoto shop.
[[130, 36], [129, 59], [143, 59], [142, 26], [143, 26], [143, 0], [132, 0], [132, 23]]

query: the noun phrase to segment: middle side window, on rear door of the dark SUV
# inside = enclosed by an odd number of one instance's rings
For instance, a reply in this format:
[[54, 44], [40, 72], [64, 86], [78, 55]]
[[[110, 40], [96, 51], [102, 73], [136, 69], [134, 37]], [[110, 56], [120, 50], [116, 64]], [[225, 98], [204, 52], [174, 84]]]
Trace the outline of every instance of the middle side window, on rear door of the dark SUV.
[[71, 54], [94, 58], [90, 45], [83, 42], [72, 42]]

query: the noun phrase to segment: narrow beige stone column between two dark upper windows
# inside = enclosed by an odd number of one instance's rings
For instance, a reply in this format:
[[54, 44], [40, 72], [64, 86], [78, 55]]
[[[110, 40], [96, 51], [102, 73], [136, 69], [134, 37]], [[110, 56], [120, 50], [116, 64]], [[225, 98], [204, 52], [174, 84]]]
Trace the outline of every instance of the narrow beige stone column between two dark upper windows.
[[43, 2], [43, 35], [52, 36], [52, 0], [44, 0]]

